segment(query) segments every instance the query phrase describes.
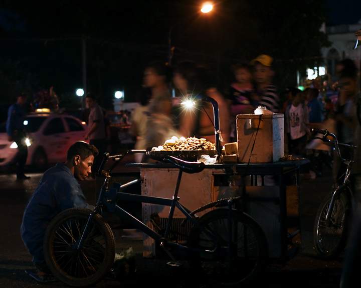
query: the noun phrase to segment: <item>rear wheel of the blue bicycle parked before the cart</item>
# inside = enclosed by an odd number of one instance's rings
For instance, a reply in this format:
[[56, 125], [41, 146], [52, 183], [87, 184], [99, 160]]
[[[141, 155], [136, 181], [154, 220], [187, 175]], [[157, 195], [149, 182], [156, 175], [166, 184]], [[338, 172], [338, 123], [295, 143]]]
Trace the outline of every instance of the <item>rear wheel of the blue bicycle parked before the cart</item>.
[[[212, 286], [238, 287], [255, 279], [267, 263], [267, 240], [262, 228], [249, 215], [232, 210], [232, 267], [227, 267], [228, 258], [228, 209], [212, 210], [199, 219], [199, 224], [220, 240], [218, 244], [211, 241], [196, 225], [190, 231], [188, 245], [190, 247], [218, 251], [212, 254], [190, 254], [190, 265], [202, 274]], [[246, 237], [245, 237], [246, 235]], [[237, 249], [237, 251], [235, 251]], [[235, 253], [237, 252], [237, 253]]]

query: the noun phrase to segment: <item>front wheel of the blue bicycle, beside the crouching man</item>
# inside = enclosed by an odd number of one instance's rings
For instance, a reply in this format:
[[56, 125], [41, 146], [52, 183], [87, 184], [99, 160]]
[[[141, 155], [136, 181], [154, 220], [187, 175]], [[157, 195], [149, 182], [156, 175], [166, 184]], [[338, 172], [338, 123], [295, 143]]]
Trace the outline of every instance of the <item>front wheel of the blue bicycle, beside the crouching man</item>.
[[114, 262], [114, 235], [99, 214], [92, 219], [93, 226], [82, 249], [73, 248], [80, 240], [90, 213], [86, 208], [62, 211], [51, 221], [44, 237], [45, 260], [50, 270], [70, 286], [97, 283]]

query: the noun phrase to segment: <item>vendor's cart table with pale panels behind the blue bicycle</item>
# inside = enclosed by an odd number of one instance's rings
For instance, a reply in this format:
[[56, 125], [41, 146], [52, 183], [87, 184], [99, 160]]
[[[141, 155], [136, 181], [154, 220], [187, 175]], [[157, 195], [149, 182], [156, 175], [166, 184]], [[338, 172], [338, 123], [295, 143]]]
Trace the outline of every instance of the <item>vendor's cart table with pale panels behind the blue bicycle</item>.
[[[297, 235], [300, 233], [298, 213], [300, 166], [308, 162], [308, 159], [302, 158], [297, 161], [273, 163], [207, 165], [206, 169], [200, 173], [183, 173], [179, 187], [180, 202], [190, 209], [197, 209], [217, 199], [228, 197], [230, 190], [228, 179], [231, 175], [238, 177], [237, 192], [243, 196], [242, 209], [255, 218], [264, 230], [269, 246], [269, 257], [286, 260], [292, 256], [300, 244], [300, 237]], [[143, 195], [172, 196], [178, 169], [171, 164], [130, 163], [126, 166], [140, 167]], [[288, 185], [286, 185], [286, 180]], [[150, 215], [153, 213], [158, 213], [162, 225], [165, 225], [167, 208], [152, 204], [142, 205], [144, 223], [152, 225]], [[177, 218], [177, 216], [175, 213], [173, 229], [178, 229], [181, 234], [187, 234], [187, 227], [180, 225], [183, 218]], [[295, 235], [298, 237], [298, 243], [292, 240]], [[148, 237], [143, 240], [143, 255], [154, 256], [153, 240]]]

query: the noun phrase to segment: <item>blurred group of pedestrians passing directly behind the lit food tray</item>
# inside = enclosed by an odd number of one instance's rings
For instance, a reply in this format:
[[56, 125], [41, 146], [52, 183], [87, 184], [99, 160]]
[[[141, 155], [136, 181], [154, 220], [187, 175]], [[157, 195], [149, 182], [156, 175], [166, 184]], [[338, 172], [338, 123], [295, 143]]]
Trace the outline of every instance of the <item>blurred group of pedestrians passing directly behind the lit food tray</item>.
[[[144, 71], [141, 106], [132, 113], [135, 148], [149, 150], [174, 135], [202, 137], [214, 142], [212, 105], [198, 102], [193, 108], [182, 105], [184, 100], [194, 101], [200, 95], [218, 103], [222, 143], [235, 141], [237, 114], [253, 113], [258, 105], [279, 112], [279, 96], [272, 84], [272, 60], [268, 55], [260, 55], [250, 64], [235, 65], [235, 81], [225, 96], [205, 66], [185, 60], [170, 71], [170, 67], [161, 62], [150, 63]], [[169, 87], [174, 87], [176, 97], [171, 97]]]

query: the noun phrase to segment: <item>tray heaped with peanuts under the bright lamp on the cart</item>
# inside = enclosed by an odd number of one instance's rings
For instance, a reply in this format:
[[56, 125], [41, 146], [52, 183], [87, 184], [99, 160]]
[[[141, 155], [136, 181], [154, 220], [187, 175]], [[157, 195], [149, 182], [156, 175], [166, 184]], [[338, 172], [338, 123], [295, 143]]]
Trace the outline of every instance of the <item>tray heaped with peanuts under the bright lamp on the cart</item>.
[[162, 146], [153, 147], [147, 154], [154, 160], [163, 160], [166, 156], [174, 156], [187, 161], [197, 161], [200, 155], [217, 154], [216, 144], [205, 138], [173, 136], [166, 140]]

